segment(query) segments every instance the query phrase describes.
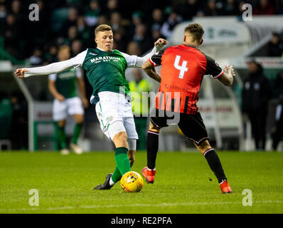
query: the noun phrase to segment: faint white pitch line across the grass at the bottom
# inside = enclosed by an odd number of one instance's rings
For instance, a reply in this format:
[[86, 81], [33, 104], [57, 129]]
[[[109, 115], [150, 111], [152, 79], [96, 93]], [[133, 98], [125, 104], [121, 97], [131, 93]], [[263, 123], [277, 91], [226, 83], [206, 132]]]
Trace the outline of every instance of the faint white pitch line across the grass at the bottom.
[[[282, 204], [283, 201], [280, 200], [263, 200], [263, 201], [255, 201], [256, 204]], [[26, 207], [19, 209], [0, 209], [0, 212], [21, 212], [21, 211], [37, 211], [37, 210], [64, 210], [64, 209], [95, 209], [95, 208], [103, 208], [103, 207], [173, 207], [173, 206], [189, 206], [189, 205], [209, 205], [209, 204], [242, 204], [242, 202], [185, 202], [185, 203], [162, 203], [162, 204], [110, 204], [110, 205], [85, 205], [79, 207]]]

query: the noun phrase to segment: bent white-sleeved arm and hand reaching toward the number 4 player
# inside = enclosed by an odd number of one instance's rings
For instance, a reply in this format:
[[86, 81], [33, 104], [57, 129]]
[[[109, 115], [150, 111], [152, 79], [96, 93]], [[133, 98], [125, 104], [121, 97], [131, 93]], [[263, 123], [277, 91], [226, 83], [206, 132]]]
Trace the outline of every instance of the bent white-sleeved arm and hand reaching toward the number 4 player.
[[[163, 44], [158, 43], [157, 46], [154, 46], [154, 48], [151, 50], [150, 53], [146, 54], [143, 57], [138, 56], [129, 56], [126, 53], [122, 53], [124, 58], [126, 58], [126, 61], [128, 63], [128, 67], [142, 67], [144, 65], [144, 62], [147, 61], [151, 56], [153, 56], [156, 52], [159, 52], [164, 47]], [[129, 61], [129, 62], [128, 62]]]

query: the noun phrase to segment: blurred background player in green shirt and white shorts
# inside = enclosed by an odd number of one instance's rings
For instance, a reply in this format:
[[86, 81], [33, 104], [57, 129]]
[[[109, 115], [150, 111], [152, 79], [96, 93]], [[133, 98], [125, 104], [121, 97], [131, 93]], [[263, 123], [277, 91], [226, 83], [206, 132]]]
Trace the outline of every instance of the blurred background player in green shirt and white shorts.
[[[58, 60], [65, 61], [70, 58], [70, 47], [62, 45], [58, 50]], [[73, 115], [75, 119], [75, 129], [70, 149], [76, 154], [81, 154], [82, 149], [78, 146], [78, 138], [82, 130], [84, 121], [84, 109], [88, 106], [88, 100], [85, 95], [85, 81], [83, 80], [82, 70], [80, 68], [70, 69], [61, 73], [55, 73], [48, 76], [48, 88], [54, 97], [53, 102], [53, 120], [58, 124], [58, 142], [60, 152], [68, 155], [67, 139], [65, 136], [65, 122], [68, 115]], [[76, 94], [76, 82], [80, 88], [82, 101]]]

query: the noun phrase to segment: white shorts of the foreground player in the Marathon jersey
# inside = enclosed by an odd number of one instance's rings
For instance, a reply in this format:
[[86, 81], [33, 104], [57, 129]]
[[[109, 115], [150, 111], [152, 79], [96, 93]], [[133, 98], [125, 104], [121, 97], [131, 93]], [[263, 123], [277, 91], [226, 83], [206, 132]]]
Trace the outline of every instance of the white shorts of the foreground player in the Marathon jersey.
[[98, 93], [100, 101], [95, 105], [102, 132], [111, 140], [125, 131], [129, 139], [139, 139], [134, 125], [132, 105], [124, 95], [113, 92]]

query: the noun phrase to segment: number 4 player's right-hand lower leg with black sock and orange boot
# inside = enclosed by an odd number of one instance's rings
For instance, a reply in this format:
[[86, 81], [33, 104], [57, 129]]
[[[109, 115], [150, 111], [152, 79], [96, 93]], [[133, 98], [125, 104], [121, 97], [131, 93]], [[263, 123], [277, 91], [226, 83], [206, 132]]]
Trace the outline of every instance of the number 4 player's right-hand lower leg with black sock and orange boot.
[[[196, 144], [195, 144], [196, 145]], [[198, 150], [201, 151], [201, 153], [204, 155], [205, 159], [208, 162], [208, 165], [210, 169], [214, 172], [214, 175], [217, 177], [221, 193], [231, 193], [231, 187], [227, 182], [227, 178], [225, 176], [223, 167], [221, 165], [221, 162], [219, 160], [219, 157], [215, 150], [210, 146], [210, 143], [208, 140], [205, 140], [204, 142], [201, 142], [200, 145], [196, 145]]]

